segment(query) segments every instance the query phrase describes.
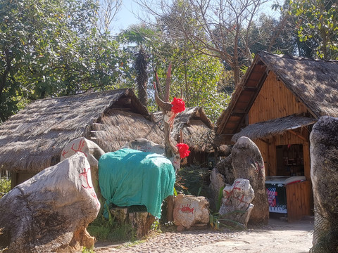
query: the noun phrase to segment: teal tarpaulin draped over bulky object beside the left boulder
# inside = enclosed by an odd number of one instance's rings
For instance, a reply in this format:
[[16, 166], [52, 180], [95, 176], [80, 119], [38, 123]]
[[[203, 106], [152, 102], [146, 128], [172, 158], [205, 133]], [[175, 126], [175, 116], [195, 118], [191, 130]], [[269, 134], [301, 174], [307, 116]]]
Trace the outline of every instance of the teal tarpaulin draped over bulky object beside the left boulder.
[[106, 205], [145, 205], [161, 218], [161, 204], [173, 195], [175, 169], [168, 158], [123, 148], [99, 159], [99, 186]]

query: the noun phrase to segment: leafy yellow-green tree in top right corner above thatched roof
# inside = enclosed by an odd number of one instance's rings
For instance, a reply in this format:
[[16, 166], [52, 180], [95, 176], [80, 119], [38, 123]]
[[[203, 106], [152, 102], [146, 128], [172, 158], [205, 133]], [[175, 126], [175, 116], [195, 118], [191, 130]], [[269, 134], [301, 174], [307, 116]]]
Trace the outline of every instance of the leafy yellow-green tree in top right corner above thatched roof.
[[300, 41], [317, 46], [317, 56], [338, 59], [338, 6], [335, 0], [290, 1]]

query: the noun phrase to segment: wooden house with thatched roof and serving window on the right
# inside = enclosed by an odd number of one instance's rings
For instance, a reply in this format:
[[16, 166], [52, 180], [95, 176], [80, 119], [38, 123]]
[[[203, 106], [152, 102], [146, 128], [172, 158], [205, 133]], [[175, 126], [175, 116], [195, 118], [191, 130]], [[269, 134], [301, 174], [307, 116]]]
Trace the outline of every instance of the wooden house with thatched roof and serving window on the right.
[[[266, 176], [305, 176], [310, 195], [309, 134], [324, 115], [338, 117], [338, 61], [261, 51], [218, 119], [216, 132], [222, 143], [251, 138], [261, 150]], [[306, 199], [298, 218], [310, 212]]]

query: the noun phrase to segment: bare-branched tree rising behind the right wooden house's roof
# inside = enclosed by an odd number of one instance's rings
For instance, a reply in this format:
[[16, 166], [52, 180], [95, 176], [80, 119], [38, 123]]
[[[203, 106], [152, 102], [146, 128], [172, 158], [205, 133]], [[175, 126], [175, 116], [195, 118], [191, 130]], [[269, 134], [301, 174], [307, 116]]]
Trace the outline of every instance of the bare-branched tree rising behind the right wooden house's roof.
[[156, 16], [156, 21], [172, 38], [187, 40], [194, 50], [220, 58], [234, 72], [234, 83], [241, 77], [240, 68], [251, 63], [249, 37], [251, 25], [263, 0], [177, 0], [161, 1], [158, 11], [154, 3], [139, 0]]

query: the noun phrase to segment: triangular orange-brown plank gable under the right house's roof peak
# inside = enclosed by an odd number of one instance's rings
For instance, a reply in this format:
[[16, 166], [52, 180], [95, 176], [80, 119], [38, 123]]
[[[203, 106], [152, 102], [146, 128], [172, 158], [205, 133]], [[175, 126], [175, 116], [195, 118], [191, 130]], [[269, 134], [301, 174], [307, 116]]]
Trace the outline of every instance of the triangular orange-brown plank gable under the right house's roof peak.
[[249, 110], [249, 124], [305, 112], [308, 112], [305, 105], [297, 101], [296, 96], [270, 71]]

